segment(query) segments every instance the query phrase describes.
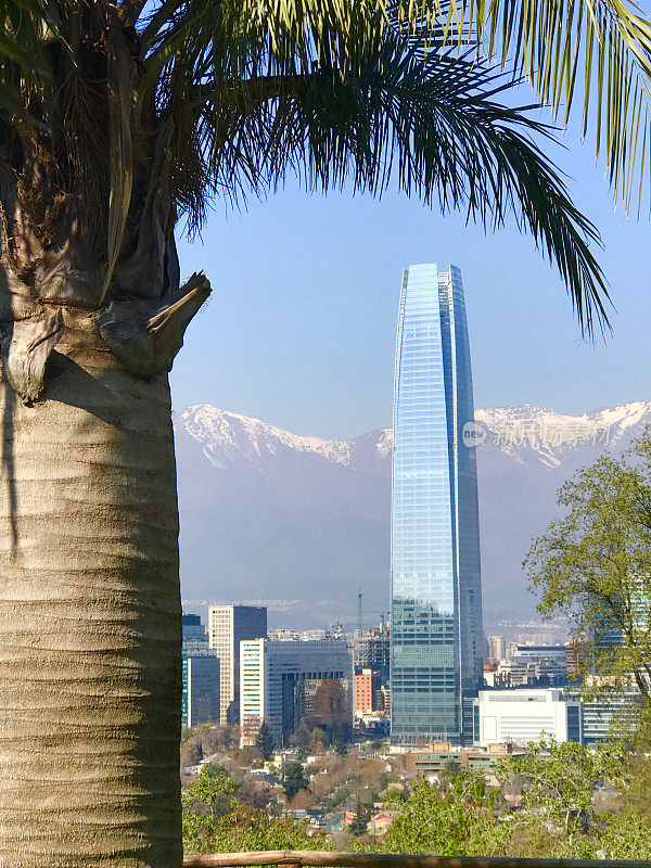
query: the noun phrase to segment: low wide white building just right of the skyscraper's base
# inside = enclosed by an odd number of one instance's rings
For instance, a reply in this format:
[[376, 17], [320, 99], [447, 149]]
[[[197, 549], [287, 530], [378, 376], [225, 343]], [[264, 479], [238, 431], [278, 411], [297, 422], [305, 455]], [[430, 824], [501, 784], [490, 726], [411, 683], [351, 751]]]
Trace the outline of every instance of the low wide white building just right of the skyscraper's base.
[[580, 742], [580, 703], [553, 687], [480, 690], [474, 700], [475, 744], [526, 744], [542, 736]]

